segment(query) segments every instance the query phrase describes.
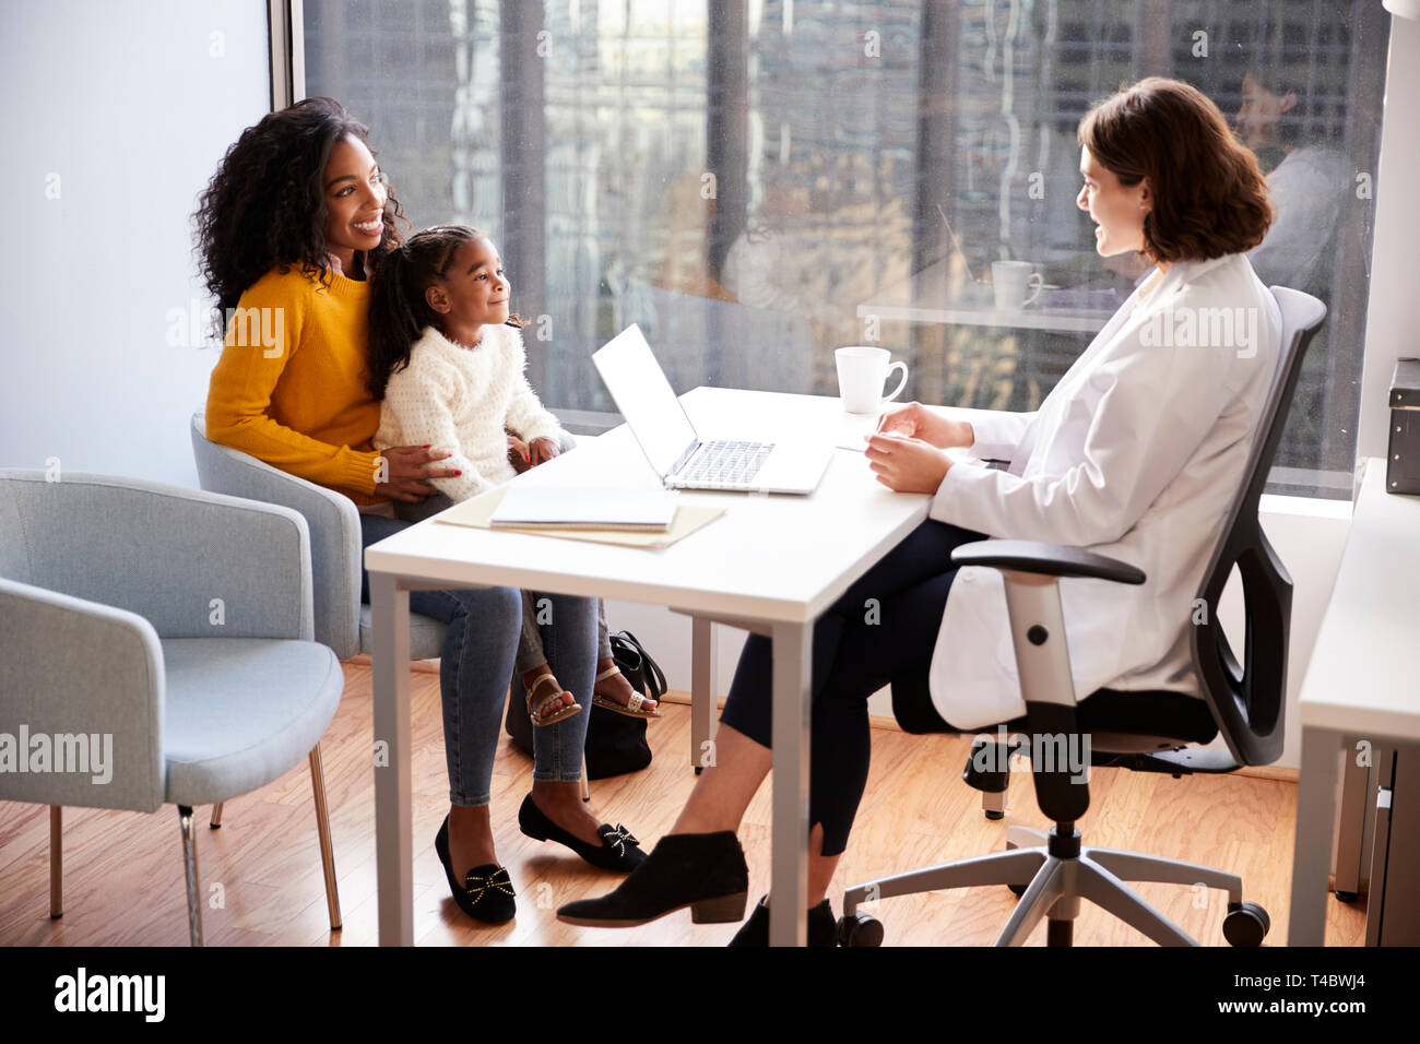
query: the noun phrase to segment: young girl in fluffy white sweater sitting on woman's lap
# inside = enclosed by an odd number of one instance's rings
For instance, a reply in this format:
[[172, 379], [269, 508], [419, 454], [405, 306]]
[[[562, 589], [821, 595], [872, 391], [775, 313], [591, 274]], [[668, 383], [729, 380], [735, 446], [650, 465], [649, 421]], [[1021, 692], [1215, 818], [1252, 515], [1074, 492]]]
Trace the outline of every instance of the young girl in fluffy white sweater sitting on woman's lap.
[[[375, 447], [429, 445], [459, 474], [430, 482], [459, 501], [551, 460], [562, 428], [528, 386], [523, 320], [508, 311], [510, 284], [487, 236], [463, 224], [409, 237], [379, 267], [371, 304], [371, 391], [382, 398]], [[436, 501], [436, 503], [430, 503]], [[425, 517], [443, 497], [396, 504]], [[599, 662], [592, 702], [635, 717], [659, 717], [616, 669], [598, 599]], [[561, 722], [582, 707], [552, 676], [542, 651], [537, 598], [523, 592], [517, 672], [532, 724]]]

